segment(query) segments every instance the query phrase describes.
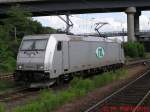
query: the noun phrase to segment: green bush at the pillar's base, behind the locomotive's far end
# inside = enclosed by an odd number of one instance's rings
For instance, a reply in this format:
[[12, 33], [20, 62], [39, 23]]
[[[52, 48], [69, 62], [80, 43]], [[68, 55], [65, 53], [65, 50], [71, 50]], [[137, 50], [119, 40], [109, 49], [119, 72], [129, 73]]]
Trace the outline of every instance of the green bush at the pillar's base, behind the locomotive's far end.
[[137, 58], [144, 57], [144, 46], [138, 42], [127, 42], [124, 44], [124, 52], [126, 56]]

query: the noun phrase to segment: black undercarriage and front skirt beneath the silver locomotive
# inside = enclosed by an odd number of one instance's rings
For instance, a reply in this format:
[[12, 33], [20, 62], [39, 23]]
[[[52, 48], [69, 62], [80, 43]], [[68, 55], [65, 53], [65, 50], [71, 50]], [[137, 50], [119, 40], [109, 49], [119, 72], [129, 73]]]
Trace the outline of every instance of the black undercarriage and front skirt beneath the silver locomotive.
[[37, 88], [37, 87], [50, 86], [53, 85], [54, 83], [60, 83], [60, 82], [62, 83], [64, 81], [66, 82], [68, 80], [71, 80], [75, 75], [76, 76], [84, 76], [85, 74], [86, 76], [88, 76], [88, 74], [94, 75], [101, 72], [116, 70], [118, 68], [121, 68], [122, 66], [123, 64], [118, 63], [114, 65], [103, 66], [100, 68], [93, 68], [93, 69], [73, 72], [69, 74], [62, 74], [57, 79], [50, 79], [49, 73], [44, 73], [44, 71], [17, 70], [16, 73], [14, 74], [14, 79], [15, 82], [19, 85], [28, 86], [31, 88]]

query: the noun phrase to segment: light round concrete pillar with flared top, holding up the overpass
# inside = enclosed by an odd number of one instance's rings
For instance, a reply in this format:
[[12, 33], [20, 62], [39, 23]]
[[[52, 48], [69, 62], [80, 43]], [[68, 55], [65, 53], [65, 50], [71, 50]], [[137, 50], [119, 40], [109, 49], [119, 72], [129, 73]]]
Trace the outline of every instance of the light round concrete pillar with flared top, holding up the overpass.
[[128, 7], [126, 9], [127, 14], [127, 32], [128, 32], [128, 41], [136, 41], [135, 30], [134, 30], [134, 14], [136, 13], [135, 7]]

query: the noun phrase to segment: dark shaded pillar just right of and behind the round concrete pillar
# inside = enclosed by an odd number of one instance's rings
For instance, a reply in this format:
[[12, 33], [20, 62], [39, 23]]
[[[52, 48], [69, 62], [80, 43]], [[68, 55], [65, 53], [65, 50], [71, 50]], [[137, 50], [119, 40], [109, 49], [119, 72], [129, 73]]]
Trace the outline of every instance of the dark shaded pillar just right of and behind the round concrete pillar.
[[141, 15], [141, 11], [137, 11], [134, 15], [135, 34], [139, 33], [140, 31], [140, 15]]

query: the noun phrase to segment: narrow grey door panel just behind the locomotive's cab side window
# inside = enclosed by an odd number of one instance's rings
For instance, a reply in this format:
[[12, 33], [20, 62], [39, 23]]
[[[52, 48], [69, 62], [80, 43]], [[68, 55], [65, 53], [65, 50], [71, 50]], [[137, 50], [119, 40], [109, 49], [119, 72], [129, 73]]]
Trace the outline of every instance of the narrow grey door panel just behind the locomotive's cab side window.
[[63, 42], [63, 71], [67, 72], [69, 70], [69, 45], [67, 41]]

